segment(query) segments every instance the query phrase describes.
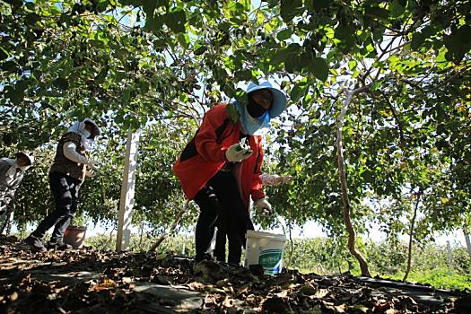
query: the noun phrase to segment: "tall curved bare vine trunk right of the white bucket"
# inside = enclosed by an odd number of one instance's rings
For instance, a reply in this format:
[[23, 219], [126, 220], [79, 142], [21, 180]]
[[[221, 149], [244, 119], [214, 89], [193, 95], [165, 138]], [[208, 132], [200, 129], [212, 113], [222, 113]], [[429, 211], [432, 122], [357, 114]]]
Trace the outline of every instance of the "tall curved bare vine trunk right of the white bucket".
[[370, 277], [370, 270], [368, 269], [368, 264], [365, 258], [362, 256], [362, 253], [355, 248], [355, 231], [353, 230], [352, 219], [350, 217], [350, 200], [348, 198], [348, 186], [345, 176], [345, 159], [343, 153], [343, 136], [342, 128], [344, 127], [345, 113], [348, 109], [348, 106], [353, 100], [353, 96], [359, 92], [366, 92], [367, 87], [360, 87], [353, 91], [346, 92], [346, 98], [344, 101], [344, 107], [340, 111], [340, 115], [337, 120], [337, 130], [336, 130], [336, 146], [337, 146], [337, 165], [338, 165], [338, 176], [340, 179], [340, 187], [342, 188], [342, 201], [344, 203], [344, 220], [346, 231], [348, 232], [348, 244], [347, 248], [350, 253], [358, 260], [360, 264], [360, 269], [363, 276]]

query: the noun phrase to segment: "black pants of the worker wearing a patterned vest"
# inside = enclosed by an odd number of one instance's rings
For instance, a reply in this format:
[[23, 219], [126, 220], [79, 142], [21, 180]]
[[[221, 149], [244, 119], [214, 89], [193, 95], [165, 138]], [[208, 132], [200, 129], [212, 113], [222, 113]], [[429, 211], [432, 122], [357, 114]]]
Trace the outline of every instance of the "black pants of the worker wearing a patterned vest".
[[39, 222], [38, 228], [31, 233], [32, 236], [43, 239], [46, 232], [55, 226], [51, 242], [62, 240], [64, 231], [69, 226], [77, 210], [80, 184], [81, 180], [63, 173], [51, 172], [49, 174], [49, 186], [56, 202], [56, 210], [48, 214], [42, 222]]

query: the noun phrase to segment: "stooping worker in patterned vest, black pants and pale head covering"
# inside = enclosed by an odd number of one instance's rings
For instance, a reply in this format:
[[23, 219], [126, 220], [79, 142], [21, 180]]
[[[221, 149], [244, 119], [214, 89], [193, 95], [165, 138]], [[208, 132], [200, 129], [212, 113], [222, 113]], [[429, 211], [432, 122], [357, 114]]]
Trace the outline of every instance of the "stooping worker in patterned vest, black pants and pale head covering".
[[46, 232], [54, 227], [48, 249], [72, 249], [63, 241], [65, 229], [69, 226], [77, 209], [79, 189], [85, 177], [93, 177], [98, 161], [90, 158], [92, 142], [101, 135], [100, 127], [90, 118], [76, 122], [57, 144], [56, 156], [49, 170], [51, 188], [56, 210], [39, 222], [38, 227], [26, 238], [32, 249], [46, 251], [42, 240]]

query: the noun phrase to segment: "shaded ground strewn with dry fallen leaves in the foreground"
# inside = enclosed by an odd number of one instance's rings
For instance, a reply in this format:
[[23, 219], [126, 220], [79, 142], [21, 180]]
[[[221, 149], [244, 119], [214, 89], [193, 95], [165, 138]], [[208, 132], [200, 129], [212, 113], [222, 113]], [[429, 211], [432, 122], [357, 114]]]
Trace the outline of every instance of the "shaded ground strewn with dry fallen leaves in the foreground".
[[471, 295], [352, 275], [263, 275], [213, 261], [0, 238], [0, 313], [471, 313]]

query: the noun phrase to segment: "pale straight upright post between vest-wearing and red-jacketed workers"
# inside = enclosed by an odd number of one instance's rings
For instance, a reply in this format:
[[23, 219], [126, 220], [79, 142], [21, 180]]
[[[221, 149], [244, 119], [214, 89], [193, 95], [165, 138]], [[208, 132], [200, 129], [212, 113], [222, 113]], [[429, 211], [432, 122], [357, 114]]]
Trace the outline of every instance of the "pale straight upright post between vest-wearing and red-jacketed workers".
[[129, 131], [127, 135], [125, 170], [121, 185], [121, 198], [119, 200], [118, 233], [116, 236], [117, 251], [129, 248], [135, 194], [135, 170], [137, 169], [137, 145], [140, 135], [140, 129], [135, 133]]

